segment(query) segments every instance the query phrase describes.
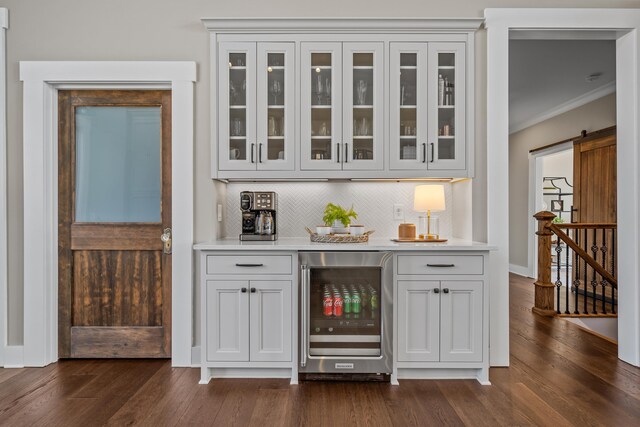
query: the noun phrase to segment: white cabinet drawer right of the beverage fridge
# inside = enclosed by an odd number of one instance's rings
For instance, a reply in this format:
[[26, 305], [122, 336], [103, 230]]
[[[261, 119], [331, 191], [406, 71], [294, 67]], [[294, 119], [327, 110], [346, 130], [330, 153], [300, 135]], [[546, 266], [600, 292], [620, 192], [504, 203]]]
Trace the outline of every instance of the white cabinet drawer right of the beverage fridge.
[[483, 274], [482, 255], [398, 255], [398, 274]]

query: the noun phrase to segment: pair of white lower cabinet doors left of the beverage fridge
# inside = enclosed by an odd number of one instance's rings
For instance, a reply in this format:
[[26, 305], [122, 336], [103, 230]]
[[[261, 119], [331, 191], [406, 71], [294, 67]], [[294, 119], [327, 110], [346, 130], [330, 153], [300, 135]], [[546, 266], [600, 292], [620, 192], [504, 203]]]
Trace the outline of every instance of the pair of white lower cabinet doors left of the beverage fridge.
[[291, 282], [207, 281], [207, 359], [291, 361]]

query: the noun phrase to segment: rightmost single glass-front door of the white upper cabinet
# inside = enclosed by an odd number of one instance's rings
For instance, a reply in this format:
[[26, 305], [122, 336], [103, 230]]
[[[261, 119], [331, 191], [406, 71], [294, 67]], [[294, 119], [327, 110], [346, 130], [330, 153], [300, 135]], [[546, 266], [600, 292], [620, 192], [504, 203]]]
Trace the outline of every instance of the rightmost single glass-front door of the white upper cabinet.
[[465, 44], [429, 43], [428, 168], [465, 169]]

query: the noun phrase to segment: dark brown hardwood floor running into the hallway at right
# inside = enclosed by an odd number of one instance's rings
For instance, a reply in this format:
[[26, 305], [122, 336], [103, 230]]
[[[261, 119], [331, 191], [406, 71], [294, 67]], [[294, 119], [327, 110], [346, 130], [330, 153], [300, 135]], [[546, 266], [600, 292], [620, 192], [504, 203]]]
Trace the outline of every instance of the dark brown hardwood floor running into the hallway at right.
[[162, 360], [76, 360], [0, 369], [0, 424], [638, 426], [640, 369], [570, 322], [531, 313], [511, 277], [511, 367], [476, 381], [214, 380]]

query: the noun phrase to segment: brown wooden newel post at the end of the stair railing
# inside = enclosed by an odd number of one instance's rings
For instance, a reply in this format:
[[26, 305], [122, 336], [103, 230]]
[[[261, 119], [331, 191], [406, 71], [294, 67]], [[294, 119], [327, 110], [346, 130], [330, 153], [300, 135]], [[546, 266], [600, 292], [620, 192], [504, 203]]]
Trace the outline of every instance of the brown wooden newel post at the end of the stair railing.
[[538, 280], [535, 285], [535, 304], [533, 312], [543, 316], [555, 315], [553, 308], [553, 291], [555, 285], [551, 283], [551, 236], [553, 233], [547, 227], [556, 217], [551, 212], [542, 211], [533, 216], [538, 220]]

